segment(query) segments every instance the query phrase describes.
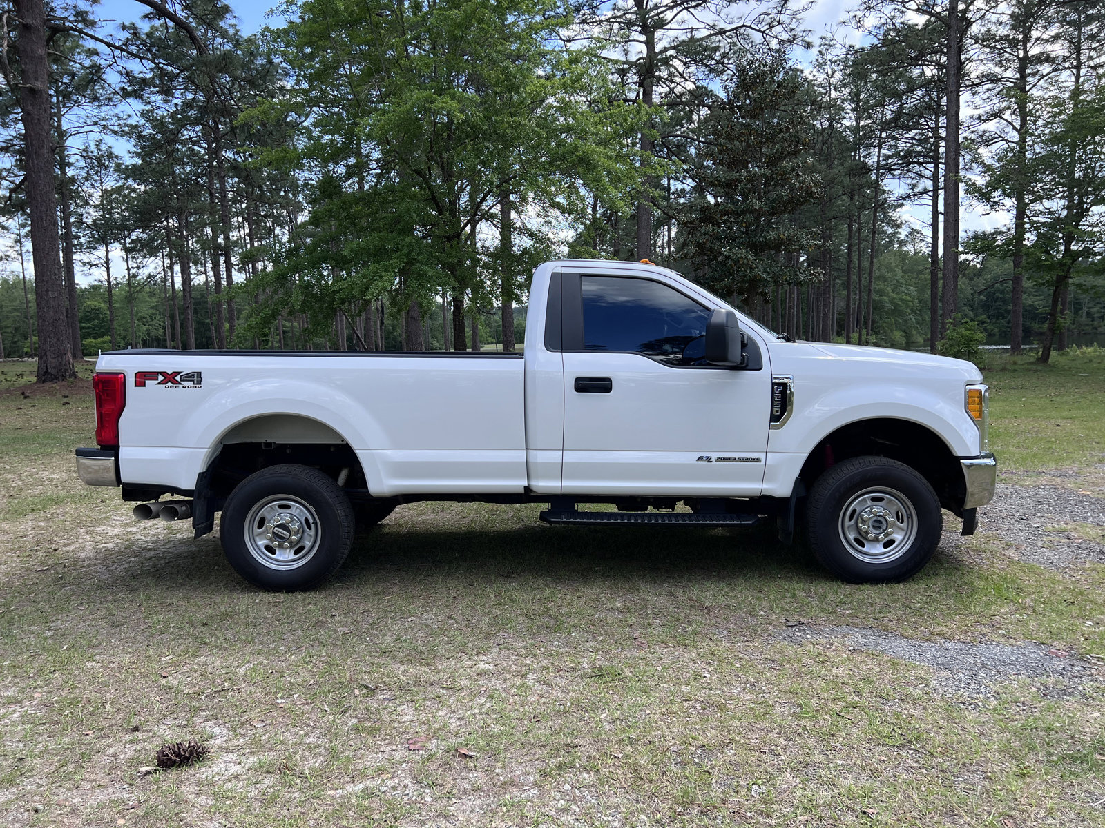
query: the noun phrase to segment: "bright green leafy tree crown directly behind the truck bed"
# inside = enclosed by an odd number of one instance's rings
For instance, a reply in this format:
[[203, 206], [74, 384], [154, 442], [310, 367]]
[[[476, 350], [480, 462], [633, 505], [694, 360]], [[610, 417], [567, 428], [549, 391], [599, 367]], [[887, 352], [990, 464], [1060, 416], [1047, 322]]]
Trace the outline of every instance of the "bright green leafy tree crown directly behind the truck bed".
[[[423, 311], [443, 289], [494, 304], [503, 266], [520, 276], [532, 258], [503, 262], [481, 237], [503, 192], [519, 212], [571, 215], [585, 185], [636, 185], [624, 138], [638, 110], [615, 102], [594, 51], [558, 45], [565, 7], [305, 0], [290, 17], [277, 41], [290, 84], [246, 120], [301, 119], [298, 141], [261, 158], [305, 173], [311, 210], [253, 282], [254, 333], [287, 310], [328, 328], [391, 293]], [[545, 253], [547, 233], [515, 238]]]

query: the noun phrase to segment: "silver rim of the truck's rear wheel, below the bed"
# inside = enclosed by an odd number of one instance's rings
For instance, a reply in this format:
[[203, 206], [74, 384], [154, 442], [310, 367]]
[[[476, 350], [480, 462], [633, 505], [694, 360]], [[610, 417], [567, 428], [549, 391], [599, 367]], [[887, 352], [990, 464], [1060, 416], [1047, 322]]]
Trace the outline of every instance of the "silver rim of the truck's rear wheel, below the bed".
[[294, 570], [318, 551], [323, 533], [308, 503], [291, 495], [273, 495], [250, 509], [244, 535], [257, 563], [270, 570]]

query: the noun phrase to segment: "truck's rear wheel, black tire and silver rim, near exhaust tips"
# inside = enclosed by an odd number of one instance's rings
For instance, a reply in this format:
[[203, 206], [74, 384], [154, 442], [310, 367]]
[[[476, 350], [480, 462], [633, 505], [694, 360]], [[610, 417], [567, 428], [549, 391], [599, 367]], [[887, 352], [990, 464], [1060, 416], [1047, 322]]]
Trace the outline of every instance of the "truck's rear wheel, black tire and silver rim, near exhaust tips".
[[[253, 540], [246, 538], [248, 521]], [[264, 538], [271, 543], [256, 537], [266, 528], [271, 533]], [[334, 479], [294, 464], [245, 478], [227, 498], [219, 519], [222, 551], [234, 571], [254, 586], [282, 592], [313, 590], [333, 575], [349, 554], [354, 528], [349, 498]], [[297, 554], [304, 558], [297, 560]]]

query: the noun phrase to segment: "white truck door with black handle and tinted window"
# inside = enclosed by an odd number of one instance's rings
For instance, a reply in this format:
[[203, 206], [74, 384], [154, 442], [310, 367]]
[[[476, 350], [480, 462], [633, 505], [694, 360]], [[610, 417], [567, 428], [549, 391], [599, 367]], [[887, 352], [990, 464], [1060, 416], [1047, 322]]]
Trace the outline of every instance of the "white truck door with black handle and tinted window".
[[713, 308], [664, 282], [582, 273], [561, 285], [564, 493], [759, 495], [770, 368], [706, 364]]

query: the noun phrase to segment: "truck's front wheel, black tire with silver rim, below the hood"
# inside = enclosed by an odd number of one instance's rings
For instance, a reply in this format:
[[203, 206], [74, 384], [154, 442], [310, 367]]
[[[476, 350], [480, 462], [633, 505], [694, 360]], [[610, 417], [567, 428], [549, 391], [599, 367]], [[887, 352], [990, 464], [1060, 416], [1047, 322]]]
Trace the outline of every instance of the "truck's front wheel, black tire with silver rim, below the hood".
[[928, 480], [886, 457], [838, 463], [817, 479], [806, 505], [811, 551], [852, 584], [912, 577], [932, 559], [943, 531], [940, 501]]

